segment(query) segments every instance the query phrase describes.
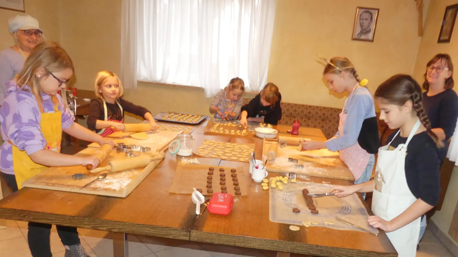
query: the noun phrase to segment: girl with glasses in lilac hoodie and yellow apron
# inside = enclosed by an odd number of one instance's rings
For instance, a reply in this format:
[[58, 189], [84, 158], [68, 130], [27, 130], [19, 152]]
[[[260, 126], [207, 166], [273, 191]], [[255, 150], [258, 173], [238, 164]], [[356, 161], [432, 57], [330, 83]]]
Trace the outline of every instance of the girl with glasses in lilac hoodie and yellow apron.
[[[75, 123], [75, 117], [57, 94], [73, 75], [70, 57], [57, 43], [39, 43], [24, 63], [24, 68], [11, 81], [5, 102], [0, 108], [0, 171], [13, 191], [22, 182], [50, 166], [97, 167], [94, 156], [60, 153], [62, 131], [100, 145], [114, 146], [98, 134]], [[28, 245], [33, 257], [51, 257], [49, 224], [29, 222]], [[81, 246], [76, 228], [57, 225], [65, 246], [65, 257], [88, 257]]]

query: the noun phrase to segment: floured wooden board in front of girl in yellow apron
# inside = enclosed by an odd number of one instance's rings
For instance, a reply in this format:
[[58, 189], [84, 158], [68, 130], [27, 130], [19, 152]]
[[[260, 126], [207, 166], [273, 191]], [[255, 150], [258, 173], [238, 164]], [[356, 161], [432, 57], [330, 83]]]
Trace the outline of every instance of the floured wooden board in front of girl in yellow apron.
[[[92, 155], [97, 148], [86, 148], [77, 156]], [[111, 160], [126, 159], [124, 153], [112, 152], [107, 160], [103, 161], [100, 166], [107, 166]], [[23, 187], [35, 187], [42, 189], [51, 189], [66, 192], [88, 193], [97, 195], [106, 195], [114, 197], [127, 197], [143, 179], [159, 164], [160, 161], [153, 161], [144, 168], [132, 169], [122, 172], [107, 172], [108, 176], [102, 180], [93, 182], [91, 185], [82, 188], [87, 183], [93, 181], [98, 174], [92, 174], [87, 171], [83, 166], [70, 166], [70, 167], [51, 167], [46, 171], [38, 174], [31, 179], [22, 183]], [[76, 180], [72, 178], [75, 173], [85, 174], [85, 178]]]

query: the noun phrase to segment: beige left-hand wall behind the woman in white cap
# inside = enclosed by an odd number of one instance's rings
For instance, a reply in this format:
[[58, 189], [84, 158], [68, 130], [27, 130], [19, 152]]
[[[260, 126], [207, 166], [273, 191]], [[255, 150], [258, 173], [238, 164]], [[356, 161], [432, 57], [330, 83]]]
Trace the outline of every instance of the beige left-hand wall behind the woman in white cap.
[[[60, 40], [59, 0], [26, 0], [25, 10], [28, 15], [38, 20], [47, 39]], [[14, 45], [8, 31], [8, 20], [18, 14], [24, 13], [0, 9], [0, 51]]]

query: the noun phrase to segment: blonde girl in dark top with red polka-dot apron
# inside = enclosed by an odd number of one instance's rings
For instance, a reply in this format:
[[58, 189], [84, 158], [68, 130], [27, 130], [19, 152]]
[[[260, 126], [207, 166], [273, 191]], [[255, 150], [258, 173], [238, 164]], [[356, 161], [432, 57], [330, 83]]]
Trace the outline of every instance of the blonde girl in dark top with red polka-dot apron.
[[[100, 71], [95, 78], [94, 85], [96, 99], [91, 101], [87, 128], [106, 137], [116, 130], [124, 129], [124, 112], [130, 112], [149, 121], [151, 130], [158, 129], [153, 115], [145, 107], [135, 105], [121, 98], [124, 90], [121, 81], [111, 71]], [[111, 129], [115, 127], [116, 129]]]

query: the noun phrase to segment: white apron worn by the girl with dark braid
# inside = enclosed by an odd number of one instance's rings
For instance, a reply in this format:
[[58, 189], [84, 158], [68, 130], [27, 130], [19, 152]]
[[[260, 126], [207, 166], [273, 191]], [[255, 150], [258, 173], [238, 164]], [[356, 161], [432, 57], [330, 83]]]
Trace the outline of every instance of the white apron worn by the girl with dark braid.
[[[414, 203], [417, 198], [410, 192], [405, 178], [405, 156], [407, 145], [420, 127], [417, 120], [410, 131], [405, 144], [400, 144], [395, 150], [388, 150], [391, 142], [378, 150], [376, 174], [374, 180], [374, 193], [372, 196], [372, 212], [383, 220], [393, 220]], [[414, 257], [416, 255], [418, 237], [420, 236], [421, 217], [387, 236], [398, 252], [399, 257]]]

